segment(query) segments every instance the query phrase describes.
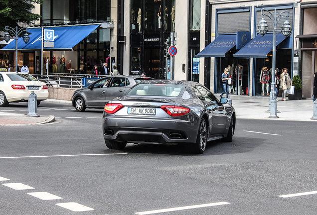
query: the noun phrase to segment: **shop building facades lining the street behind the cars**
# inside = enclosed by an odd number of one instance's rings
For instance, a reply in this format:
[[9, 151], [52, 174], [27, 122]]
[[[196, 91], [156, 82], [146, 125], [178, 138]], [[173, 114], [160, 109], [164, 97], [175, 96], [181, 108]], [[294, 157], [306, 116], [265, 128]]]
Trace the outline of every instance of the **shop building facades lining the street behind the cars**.
[[[228, 68], [234, 80], [231, 93], [266, 96], [268, 85], [261, 78], [265, 68], [272, 68], [272, 51], [261, 44], [264, 39], [272, 44], [273, 24], [264, 16], [269, 31], [260, 38], [262, 9], [288, 15], [277, 24], [276, 67], [288, 68], [291, 77], [300, 75], [303, 97], [311, 98], [317, 68], [317, 32], [311, 26], [317, 20], [317, 1], [310, 0], [44, 0], [34, 10], [42, 19], [31, 28], [98, 26], [91, 32], [83, 30], [87, 36], [71, 48], [45, 48], [43, 58], [37, 48], [19, 48], [18, 63], [26, 62], [34, 74], [54, 73], [55, 57], [57, 73], [65, 73], [60, 66], [63, 55], [76, 73], [90, 74], [94, 65], [107, 62], [110, 70], [117, 66], [124, 75], [145, 72], [157, 79], [192, 80], [214, 93], [223, 91], [220, 77]], [[288, 38], [281, 36], [286, 19], [292, 26]], [[171, 33], [177, 33], [173, 74], [172, 58], [165, 53]], [[69, 40], [74, 35], [69, 31]], [[221, 41], [228, 43], [225, 48]], [[256, 53], [245, 51], [251, 44]], [[211, 53], [204, 54], [208, 49]], [[13, 63], [14, 52], [2, 51], [3, 64]]]

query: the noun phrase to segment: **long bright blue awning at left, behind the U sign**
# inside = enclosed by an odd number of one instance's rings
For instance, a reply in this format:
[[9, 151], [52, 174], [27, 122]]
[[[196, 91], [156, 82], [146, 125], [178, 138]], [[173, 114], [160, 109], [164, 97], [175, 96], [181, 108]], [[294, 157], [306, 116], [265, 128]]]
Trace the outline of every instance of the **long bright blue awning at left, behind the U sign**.
[[[43, 47], [44, 50], [67, 50], [72, 49], [80, 41], [85, 39], [91, 32], [93, 32], [99, 24], [94, 25], [77, 25], [64, 27], [45, 27], [44, 29], [54, 31], [54, 47]], [[18, 38], [17, 48], [23, 50], [41, 50], [41, 28], [29, 28], [28, 32], [30, 41], [25, 44], [23, 38]], [[10, 42], [2, 48], [2, 50], [15, 50], [15, 42]]]

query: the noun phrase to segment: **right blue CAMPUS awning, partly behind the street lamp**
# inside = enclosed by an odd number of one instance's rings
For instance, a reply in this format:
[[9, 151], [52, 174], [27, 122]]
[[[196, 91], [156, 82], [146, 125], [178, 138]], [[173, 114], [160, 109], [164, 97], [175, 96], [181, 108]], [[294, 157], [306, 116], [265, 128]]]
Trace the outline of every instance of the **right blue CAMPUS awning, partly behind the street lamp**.
[[[276, 34], [276, 45], [279, 45], [285, 36], [281, 33]], [[273, 48], [273, 33], [265, 34], [263, 37], [258, 34], [253, 40], [246, 44], [233, 57], [239, 58], [267, 58], [267, 54]]]

